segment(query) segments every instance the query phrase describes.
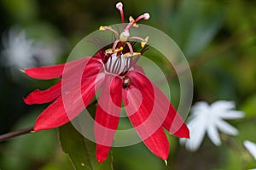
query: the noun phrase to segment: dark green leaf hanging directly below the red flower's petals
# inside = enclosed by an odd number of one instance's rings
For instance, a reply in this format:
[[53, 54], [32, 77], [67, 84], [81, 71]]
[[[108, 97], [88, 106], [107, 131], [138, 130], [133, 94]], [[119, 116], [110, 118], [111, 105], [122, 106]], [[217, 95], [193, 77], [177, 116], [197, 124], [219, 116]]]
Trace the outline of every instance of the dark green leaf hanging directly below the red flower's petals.
[[76, 170], [113, 170], [112, 158], [108, 156], [106, 161], [98, 163], [96, 160], [96, 144], [85, 139], [68, 122], [59, 127], [59, 138], [62, 150], [68, 154]]

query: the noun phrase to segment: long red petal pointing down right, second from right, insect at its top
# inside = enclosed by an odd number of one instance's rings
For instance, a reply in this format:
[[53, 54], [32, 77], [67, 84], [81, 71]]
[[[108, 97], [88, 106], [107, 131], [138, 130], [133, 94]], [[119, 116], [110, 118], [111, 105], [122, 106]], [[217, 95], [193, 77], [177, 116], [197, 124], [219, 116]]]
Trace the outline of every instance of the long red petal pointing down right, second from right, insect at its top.
[[166, 160], [169, 143], [158, 120], [157, 111], [154, 111], [154, 87], [139, 72], [130, 71], [127, 76], [131, 78], [131, 86], [123, 90], [127, 115], [148, 149]]

